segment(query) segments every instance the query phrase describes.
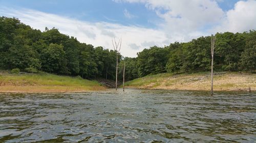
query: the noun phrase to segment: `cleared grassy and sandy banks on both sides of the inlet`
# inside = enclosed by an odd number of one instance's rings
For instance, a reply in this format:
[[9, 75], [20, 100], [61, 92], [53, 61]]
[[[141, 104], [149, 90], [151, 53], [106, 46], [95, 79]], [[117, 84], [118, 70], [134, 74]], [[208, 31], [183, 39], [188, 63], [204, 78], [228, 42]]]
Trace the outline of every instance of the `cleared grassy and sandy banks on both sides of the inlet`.
[[[256, 91], [256, 74], [221, 72], [214, 75], [214, 91]], [[127, 89], [210, 91], [210, 73], [160, 73], [125, 82]], [[119, 88], [122, 88], [120, 86]], [[95, 81], [54, 75], [0, 72], [0, 93], [67, 93], [109, 89]]]

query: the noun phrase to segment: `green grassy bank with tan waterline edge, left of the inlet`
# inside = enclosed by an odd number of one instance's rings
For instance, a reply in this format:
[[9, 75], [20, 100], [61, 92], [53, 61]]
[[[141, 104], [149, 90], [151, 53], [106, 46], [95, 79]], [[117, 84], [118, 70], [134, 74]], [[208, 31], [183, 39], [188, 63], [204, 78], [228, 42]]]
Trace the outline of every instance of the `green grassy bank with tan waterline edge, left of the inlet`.
[[0, 72], [0, 92], [80, 92], [103, 89], [105, 87], [97, 81], [81, 77]]

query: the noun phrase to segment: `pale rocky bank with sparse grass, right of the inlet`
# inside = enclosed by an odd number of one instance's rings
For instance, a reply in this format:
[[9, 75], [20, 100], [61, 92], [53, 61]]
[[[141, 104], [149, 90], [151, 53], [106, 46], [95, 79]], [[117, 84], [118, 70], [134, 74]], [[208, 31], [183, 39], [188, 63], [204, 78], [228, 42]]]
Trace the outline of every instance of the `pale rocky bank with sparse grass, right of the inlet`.
[[[125, 82], [126, 88], [167, 90], [210, 90], [210, 73], [148, 75]], [[215, 91], [256, 91], [256, 74], [220, 73], [214, 75]]]

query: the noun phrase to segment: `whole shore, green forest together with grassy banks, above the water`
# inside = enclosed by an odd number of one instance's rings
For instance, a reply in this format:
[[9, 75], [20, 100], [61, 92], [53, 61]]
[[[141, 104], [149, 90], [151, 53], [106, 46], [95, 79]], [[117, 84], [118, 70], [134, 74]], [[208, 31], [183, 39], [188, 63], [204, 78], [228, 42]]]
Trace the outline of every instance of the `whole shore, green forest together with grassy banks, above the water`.
[[152, 45], [129, 58], [117, 48], [81, 43], [55, 27], [36, 30], [17, 18], [0, 17], [0, 35], [0, 69], [12, 73], [0, 70], [1, 92], [99, 91], [107, 89], [108, 81], [122, 77], [128, 81], [126, 88], [209, 91], [210, 75], [205, 71], [210, 71], [210, 65], [221, 72], [214, 76], [214, 91], [256, 89], [255, 30], [216, 33], [213, 63], [212, 36]]

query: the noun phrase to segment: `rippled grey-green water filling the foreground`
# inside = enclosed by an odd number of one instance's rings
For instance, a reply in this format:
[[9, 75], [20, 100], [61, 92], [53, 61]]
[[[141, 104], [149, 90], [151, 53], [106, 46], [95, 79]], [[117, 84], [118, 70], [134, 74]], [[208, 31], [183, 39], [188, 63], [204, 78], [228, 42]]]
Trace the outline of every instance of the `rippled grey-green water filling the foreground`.
[[255, 93], [0, 94], [0, 142], [255, 142]]

